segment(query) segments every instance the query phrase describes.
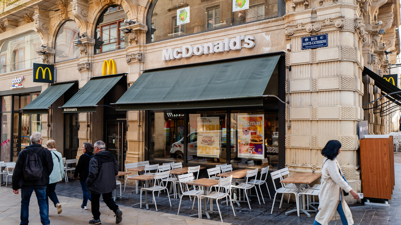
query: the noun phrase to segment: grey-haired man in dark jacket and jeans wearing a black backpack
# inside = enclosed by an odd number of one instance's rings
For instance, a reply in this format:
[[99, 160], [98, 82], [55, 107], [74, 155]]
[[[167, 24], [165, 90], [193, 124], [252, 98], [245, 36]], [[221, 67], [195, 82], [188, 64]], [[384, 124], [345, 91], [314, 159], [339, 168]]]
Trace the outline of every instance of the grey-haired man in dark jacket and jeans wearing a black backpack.
[[19, 194], [21, 188], [21, 225], [28, 224], [29, 201], [35, 191], [38, 199], [39, 214], [42, 224], [50, 224], [46, 204], [46, 187], [53, 170], [50, 151], [42, 147], [42, 135], [35, 132], [30, 136], [31, 145], [18, 155], [12, 175], [12, 191]]

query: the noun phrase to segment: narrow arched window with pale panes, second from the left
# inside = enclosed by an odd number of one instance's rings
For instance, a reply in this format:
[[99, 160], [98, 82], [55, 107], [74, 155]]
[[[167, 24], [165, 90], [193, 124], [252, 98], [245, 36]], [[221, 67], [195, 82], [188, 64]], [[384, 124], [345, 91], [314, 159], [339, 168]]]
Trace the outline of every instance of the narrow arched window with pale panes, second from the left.
[[56, 57], [54, 62], [61, 62], [79, 57], [79, 47], [72, 41], [77, 39], [79, 32], [75, 21], [67, 21], [61, 27], [56, 37]]

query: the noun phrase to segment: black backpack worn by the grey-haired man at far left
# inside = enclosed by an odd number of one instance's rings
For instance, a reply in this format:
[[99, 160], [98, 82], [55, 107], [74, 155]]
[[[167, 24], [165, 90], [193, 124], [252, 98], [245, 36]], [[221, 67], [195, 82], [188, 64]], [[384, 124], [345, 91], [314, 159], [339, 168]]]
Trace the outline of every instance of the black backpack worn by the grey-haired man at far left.
[[25, 165], [24, 165], [24, 179], [29, 181], [39, 180], [42, 178], [43, 174], [43, 166], [41, 159], [39, 158], [38, 154], [43, 147], [39, 148], [39, 151], [32, 151], [29, 148], [26, 148], [29, 152], [25, 158]]

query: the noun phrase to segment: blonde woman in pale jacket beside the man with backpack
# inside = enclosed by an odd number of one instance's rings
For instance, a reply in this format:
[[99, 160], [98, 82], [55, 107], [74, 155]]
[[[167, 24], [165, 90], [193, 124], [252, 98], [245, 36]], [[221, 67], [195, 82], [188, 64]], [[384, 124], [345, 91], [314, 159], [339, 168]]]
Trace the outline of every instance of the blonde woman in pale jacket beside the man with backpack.
[[57, 213], [60, 214], [62, 212], [61, 204], [56, 195], [56, 185], [59, 181], [61, 181], [64, 177], [64, 165], [61, 153], [57, 152], [56, 142], [54, 140], [48, 140], [46, 142], [47, 149], [49, 149], [51, 153], [51, 157], [53, 158], [53, 171], [49, 176], [49, 184], [46, 189], [46, 202], [47, 209], [49, 209], [49, 198], [53, 202], [54, 207], [57, 208]]

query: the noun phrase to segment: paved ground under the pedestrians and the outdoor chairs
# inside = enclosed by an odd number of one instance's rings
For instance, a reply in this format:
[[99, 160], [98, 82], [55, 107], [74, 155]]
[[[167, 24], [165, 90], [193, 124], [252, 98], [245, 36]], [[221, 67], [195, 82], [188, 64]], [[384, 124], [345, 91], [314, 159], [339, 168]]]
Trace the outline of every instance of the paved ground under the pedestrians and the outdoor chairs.
[[[351, 212], [355, 224], [401, 224], [401, 152], [394, 153], [395, 163], [395, 186], [392, 199], [389, 200], [390, 207], [382, 207], [376, 205], [363, 205], [361, 203], [351, 205]], [[150, 205], [149, 210], [139, 208], [139, 194], [131, 193], [132, 186], [127, 186], [121, 198], [117, 198], [116, 203], [123, 211], [122, 224], [138, 224], [138, 225], [165, 225], [165, 224], [313, 224], [316, 213], [311, 213], [311, 218], [307, 218], [301, 213], [297, 217], [296, 213], [288, 216], [285, 212], [293, 209], [295, 203], [283, 202], [283, 206], [279, 209], [280, 196], [277, 197], [273, 214], [270, 214], [272, 199], [268, 195], [264, 195], [265, 204], [259, 205], [256, 196], [251, 196], [251, 208], [247, 203], [241, 203], [240, 206], [234, 205], [234, 217], [231, 207], [226, 204], [220, 204], [223, 221], [220, 221], [218, 213], [211, 214], [211, 219], [198, 219], [190, 217], [191, 214], [196, 214], [196, 205], [194, 211], [191, 211], [192, 202], [188, 198], [183, 199], [181, 203], [180, 214], [177, 216], [179, 199], [171, 198], [172, 207], [169, 205], [168, 198], [165, 193], [161, 193], [156, 197], [158, 212], [154, 205]], [[88, 210], [80, 209], [82, 202], [82, 192], [78, 180], [70, 180], [70, 182], [61, 182], [57, 185], [56, 192], [63, 207], [63, 212], [58, 215], [56, 208], [50, 208], [51, 224], [87, 224], [87, 221], [92, 219], [90, 213], [90, 203]], [[117, 191], [119, 193], [119, 191]], [[270, 193], [273, 193], [270, 190]], [[0, 201], [0, 224], [19, 224], [20, 221], [20, 201], [21, 195], [14, 195], [9, 186], [0, 187], [2, 200]], [[273, 197], [274, 194], [271, 196]], [[142, 197], [143, 198], [143, 197]], [[261, 200], [262, 201], [262, 200]], [[216, 209], [214, 204], [213, 209]], [[110, 211], [106, 205], [101, 202], [101, 221], [102, 224], [115, 224], [114, 213]], [[31, 198], [30, 204], [30, 223], [41, 224], [39, 217], [39, 208], [34, 195]], [[398, 215], [400, 214], [400, 215]], [[203, 217], [205, 218], [205, 217]], [[330, 225], [341, 224], [340, 220], [331, 221]]]

